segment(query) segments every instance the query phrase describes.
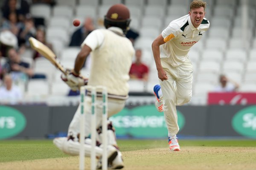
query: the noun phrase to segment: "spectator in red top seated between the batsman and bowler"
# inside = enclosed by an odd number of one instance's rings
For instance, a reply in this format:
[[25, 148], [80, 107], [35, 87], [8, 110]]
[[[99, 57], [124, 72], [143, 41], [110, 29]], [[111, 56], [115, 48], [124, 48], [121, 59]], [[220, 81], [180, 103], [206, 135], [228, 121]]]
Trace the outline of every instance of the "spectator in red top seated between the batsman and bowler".
[[141, 79], [143, 81], [148, 81], [148, 66], [143, 64], [141, 61], [142, 51], [137, 49], [135, 53], [136, 60], [131, 65], [130, 78], [131, 79]]

